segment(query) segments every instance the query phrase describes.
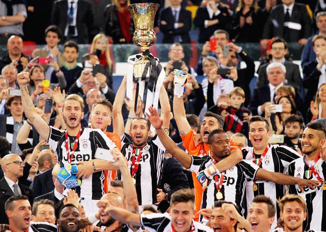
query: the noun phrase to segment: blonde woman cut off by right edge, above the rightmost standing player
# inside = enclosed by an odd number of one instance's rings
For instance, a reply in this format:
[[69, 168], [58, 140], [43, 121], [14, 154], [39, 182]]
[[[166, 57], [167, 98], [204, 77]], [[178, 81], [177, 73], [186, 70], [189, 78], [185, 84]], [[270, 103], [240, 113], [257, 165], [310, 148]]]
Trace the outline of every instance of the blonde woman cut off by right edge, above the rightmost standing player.
[[315, 101], [310, 102], [306, 122], [326, 118], [326, 83], [322, 84], [316, 92]]

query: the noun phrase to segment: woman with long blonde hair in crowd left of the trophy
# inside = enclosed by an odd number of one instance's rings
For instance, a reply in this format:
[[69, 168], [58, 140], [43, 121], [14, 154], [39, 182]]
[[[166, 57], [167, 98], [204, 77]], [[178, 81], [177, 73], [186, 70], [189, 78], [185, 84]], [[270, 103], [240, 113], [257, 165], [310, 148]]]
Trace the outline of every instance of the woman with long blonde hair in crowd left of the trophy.
[[110, 57], [108, 37], [102, 33], [97, 34], [91, 43], [90, 53], [97, 54], [98, 62], [103, 66], [104, 74], [107, 76], [108, 86], [112, 89], [113, 62]]

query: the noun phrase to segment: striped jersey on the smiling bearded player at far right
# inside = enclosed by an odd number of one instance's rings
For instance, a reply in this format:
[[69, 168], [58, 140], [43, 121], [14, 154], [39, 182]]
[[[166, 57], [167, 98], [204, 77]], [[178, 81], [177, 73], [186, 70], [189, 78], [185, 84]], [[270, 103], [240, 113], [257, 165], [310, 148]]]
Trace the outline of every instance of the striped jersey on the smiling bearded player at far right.
[[[292, 161], [289, 166], [289, 175], [303, 179], [318, 180], [309, 170], [309, 166], [305, 162], [305, 157], [300, 157]], [[319, 159], [314, 166], [320, 178], [325, 181], [326, 178], [326, 162]], [[303, 230], [326, 231], [326, 190], [322, 187], [311, 189], [308, 186], [304, 188], [305, 192], [299, 189], [298, 185], [290, 185], [290, 194], [301, 196], [307, 203], [307, 219], [304, 221]]]

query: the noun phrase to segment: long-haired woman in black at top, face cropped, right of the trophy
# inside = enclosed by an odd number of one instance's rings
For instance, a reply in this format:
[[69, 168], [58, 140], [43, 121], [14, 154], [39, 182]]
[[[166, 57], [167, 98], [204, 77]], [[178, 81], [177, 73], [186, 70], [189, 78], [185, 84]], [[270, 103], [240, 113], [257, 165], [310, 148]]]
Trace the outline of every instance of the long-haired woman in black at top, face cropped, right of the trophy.
[[257, 0], [239, 0], [233, 19], [233, 38], [236, 42], [259, 42], [265, 20]]

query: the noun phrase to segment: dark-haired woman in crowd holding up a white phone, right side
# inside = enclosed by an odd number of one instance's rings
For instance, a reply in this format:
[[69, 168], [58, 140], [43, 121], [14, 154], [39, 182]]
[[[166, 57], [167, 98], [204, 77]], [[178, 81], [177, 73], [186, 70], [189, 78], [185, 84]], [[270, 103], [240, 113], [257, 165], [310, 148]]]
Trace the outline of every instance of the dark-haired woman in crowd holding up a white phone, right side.
[[265, 118], [270, 124], [270, 128], [275, 134], [284, 134], [284, 122], [291, 114], [301, 113], [297, 111], [293, 99], [289, 96], [282, 96], [276, 101], [276, 104], [282, 105], [282, 112], [275, 112], [275, 105], [269, 104], [265, 107]]

